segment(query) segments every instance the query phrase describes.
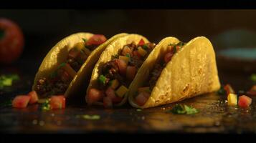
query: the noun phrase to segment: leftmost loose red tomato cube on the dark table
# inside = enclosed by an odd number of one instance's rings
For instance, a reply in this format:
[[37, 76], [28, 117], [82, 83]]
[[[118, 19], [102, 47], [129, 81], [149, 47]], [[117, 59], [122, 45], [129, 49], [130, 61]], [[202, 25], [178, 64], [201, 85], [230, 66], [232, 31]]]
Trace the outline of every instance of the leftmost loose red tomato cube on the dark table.
[[27, 95], [18, 95], [12, 100], [12, 107], [14, 108], [26, 108], [31, 97]]

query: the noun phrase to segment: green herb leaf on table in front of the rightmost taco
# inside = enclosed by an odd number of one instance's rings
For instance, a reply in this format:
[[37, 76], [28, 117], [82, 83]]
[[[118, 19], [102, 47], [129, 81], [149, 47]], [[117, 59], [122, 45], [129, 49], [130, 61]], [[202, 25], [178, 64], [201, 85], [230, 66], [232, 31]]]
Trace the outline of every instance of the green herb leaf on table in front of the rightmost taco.
[[196, 114], [199, 111], [195, 109], [194, 107], [182, 105], [182, 104], [176, 104], [173, 109], [167, 111], [172, 112], [173, 114]]

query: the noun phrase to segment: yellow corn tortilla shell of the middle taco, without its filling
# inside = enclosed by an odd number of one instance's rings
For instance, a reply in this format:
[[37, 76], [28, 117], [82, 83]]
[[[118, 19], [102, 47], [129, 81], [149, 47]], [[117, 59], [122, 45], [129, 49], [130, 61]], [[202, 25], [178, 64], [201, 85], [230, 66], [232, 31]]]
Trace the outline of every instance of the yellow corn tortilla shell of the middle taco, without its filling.
[[[111, 60], [111, 57], [114, 56], [115, 54], [118, 54], [118, 51], [120, 49], [123, 49], [123, 46], [126, 44], [131, 44], [132, 41], [136, 42], [138, 44], [138, 41], [143, 39], [145, 43], [148, 43], [148, 39], [146, 39], [144, 36], [138, 35], [138, 34], [128, 34], [127, 36], [120, 37], [118, 39], [115, 39], [112, 43], [108, 44], [107, 48], [105, 51], [100, 56], [100, 59], [98, 62], [95, 64], [95, 67], [93, 69], [92, 77], [90, 79], [90, 84], [87, 87], [87, 94], [89, 89], [91, 88], [98, 88], [98, 77], [101, 74], [101, 70], [103, 68], [103, 64]], [[128, 88], [128, 87], [127, 87]], [[127, 100], [127, 94], [124, 95], [123, 101], [120, 102], [119, 104], [115, 104], [115, 106], [120, 106], [125, 104]], [[87, 102], [87, 96], [85, 96], [85, 101]], [[102, 102], [96, 102], [95, 104], [103, 104]]]

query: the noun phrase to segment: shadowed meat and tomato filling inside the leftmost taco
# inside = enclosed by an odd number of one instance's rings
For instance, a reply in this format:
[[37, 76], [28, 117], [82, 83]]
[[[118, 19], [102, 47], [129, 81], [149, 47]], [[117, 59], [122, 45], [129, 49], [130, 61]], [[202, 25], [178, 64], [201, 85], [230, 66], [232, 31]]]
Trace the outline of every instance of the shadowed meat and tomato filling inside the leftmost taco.
[[60, 64], [48, 77], [37, 80], [36, 92], [42, 97], [54, 94], [65, 94], [70, 82], [84, 64], [95, 47], [106, 41], [103, 35], [93, 35], [90, 39], [82, 39], [68, 51], [67, 59]]

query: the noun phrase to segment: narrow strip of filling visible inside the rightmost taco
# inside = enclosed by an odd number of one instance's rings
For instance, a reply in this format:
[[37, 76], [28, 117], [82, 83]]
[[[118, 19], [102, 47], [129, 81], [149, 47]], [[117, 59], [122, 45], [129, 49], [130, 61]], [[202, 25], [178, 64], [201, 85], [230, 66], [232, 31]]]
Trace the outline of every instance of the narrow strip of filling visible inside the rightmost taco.
[[157, 79], [161, 75], [161, 71], [166, 66], [166, 64], [171, 61], [171, 58], [174, 56], [176, 51], [179, 51], [179, 49], [181, 49], [184, 44], [184, 42], [179, 42], [178, 44], [169, 44], [169, 51], [166, 52], [159, 63], [156, 63], [153, 66], [153, 69], [148, 76], [148, 80], [146, 80], [148, 82], [145, 82], [143, 87], [138, 88], [138, 95], [135, 97], [136, 104], [143, 106], [147, 102], [151, 95], [151, 90], [153, 87], [155, 87]]

